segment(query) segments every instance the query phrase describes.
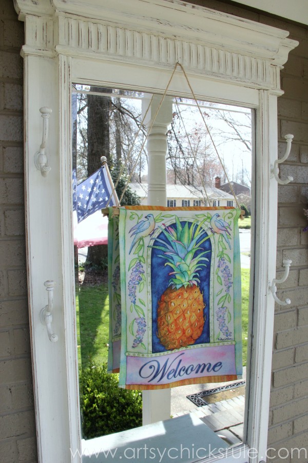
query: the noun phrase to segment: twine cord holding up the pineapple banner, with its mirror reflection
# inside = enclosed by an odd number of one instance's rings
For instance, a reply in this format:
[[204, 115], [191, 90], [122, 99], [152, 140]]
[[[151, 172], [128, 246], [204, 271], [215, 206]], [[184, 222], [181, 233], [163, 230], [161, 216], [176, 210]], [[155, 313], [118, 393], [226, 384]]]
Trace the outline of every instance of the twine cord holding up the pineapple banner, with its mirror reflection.
[[[196, 98], [196, 95], [195, 95], [195, 93], [194, 93], [194, 90], [192, 90], [192, 87], [191, 87], [191, 85], [190, 85], [190, 82], [189, 82], [189, 80], [188, 80], [188, 77], [187, 77], [187, 74], [186, 74], [186, 72], [185, 72], [184, 67], [183, 67], [182, 64], [179, 63], [179, 62], [176, 63], [176, 65], [175, 65], [175, 67], [174, 67], [174, 70], [172, 71], [172, 74], [171, 74], [170, 79], [169, 79], [169, 81], [168, 81], [168, 83], [167, 83], [167, 86], [166, 86], [166, 90], [164, 91], [164, 94], [163, 94], [163, 96], [162, 96], [162, 98], [161, 98], [161, 101], [160, 101], [160, 103], [159, 103], [159, 105], [158, 105], [158, 108], [157, 108], [157, 110], [156, 110], [156, 113], [155, 113], [155, 115], [154, 115], [154, 117], [153, 117], [153, 119], [152, 119], [152, 121], [151, 121], [151, 124], [150, 124], [148, 130], [147, 130], [147, 135], [150, 133], [150, 131], [151, 131], [152, 127], [153, 127], [153, 124], [154, 124], [154, 122], [155, 122], [155, 120], [156, 120], [156, 117], [157, 117], [157, 115], [158, 115], [158, 112], [159, 112], [159, 110], [160, 110], [160, 108], [161, 108], [161, 105], [162, 105], [162, 103], [163, 103], [163, 100], [164, 100], [164, 98], [165, 98], [165, 96], [166, 96], [166, 93], [167, 93], [167, 91], [168, 91], [170, 82], [171, 82], [171, 80], [172, 80], [172, 78], [173, 78], [173, 76], [174, 76], [174, 74], [175, 74], [176, 69], [177, 69], [178, 66], [180, 66], [180, 68], [182, 69], [183, 74], [184, 74], [185, 79], [186, 79], [186, 82], [187, 82], [187, 84], [188, 84], [189, 90], [190, 90], [190, 92], [191, 92], [191, 95], [194, 97], [194, 100], [195, 100], [195, 102], [196, 102], [196, 104], [197, 104], [198, 110], [199, 110], [199, 112], [200, 112], [200, 114], [201, 114], [201, 117], [202, 117], [202, 120], [203, 120], [203, 122], [204, 122], [204, 126], [205, 126], [205, 128], [206, 128], [206, 130], [207, 130], [207, 133], [208, 133], [208, 135], [209, 135], [209, 138], [210, 138], [210, 140], [211, 140], [211, 143], [213, 144], [213, 147], [214, 147], [214, 149], [215, 149], [215, 152], [216, 152], [216, 154], [217, 154], [217, 157], [218, 157], [218, 159], [219, 159], [219, 162], [220, 162], [220, 164], [221, 164], [221, 167], [222, 167], [222, 169], [223, 169], [223, 171], [224, 171], [224, 174], [225, 174], [225, 176], [226, 176], [227, 182], [228, 182], [228, 184], [229, 184], [229, 186], [230, 186], [230, 190], [232, 191], [232, 194], [233, 194], [233, 196], [234, 196], [234, 199], [235, 199], [235, 202], [236, 202], [236, 204], [237, 204], [237, 207], [238, 207], [239, 209], [241, 209], [240, 204], [239, 204], [239, 202], [238, 202], [238, 199], [237, 199], [237, 197], [236, 197], [236, 195], [235, 195], [234, 189], [233, 189], [233, 187], [232, 187], [232, 185], [231, 185], [231, 183], [230, 183], [230, 181], [229, 181], [228, 174], [227, 174], [227, 172], [226, 172], [226, 170], [225, 170], [225, 168], [224, 168], [224, 165], [223, 165], [223, 163], [222, 163], [222, 161], [221, 161], [221, 157], [220, 157], [219, 152], [218, 152], [218, 150], [217, 150], [217, 148], [216, 148], [214, 139], [213, 139], [213, 137], [211, 136], [211, 133], [210, 133], [210, 131], [209, 131], [209, 129], [208, 129], [207, 123], [206, 123], [206, 121], [205, 121], [205, 119], [204, 119], [204, 115], [203, 115], [203, 113], [202, 113], [202, 111], [201, 111], [201, 108], [200, 108], [200, 105], [199, 105], [199, 103], [198, 103], [198, 101], [197, 101], [197, 98]], [[147, 113], [148, 113], [148, 111], [149, 111], [149, 108], [150, 108], [150, 105], [151, 105], [151, 103], [152, 103], [153, 97], [154, 97], [154, 95], [152, 95], [152, 98], [151, 98], [151, 100], [150, 100], [150, 102], [149, 102], [149, 105], [148, 105], [148, 107], [147, 107], [147, 110], [146, 110], [146, 112], [145, 112], [145, 115], [144, 115], [144, 117], [143, 117], [143, 119], [142, 119], [142, 121], [141, 121], [139, 130], [138, 130], [136, 136], [134, 137], [132, 146], [131, 146], [131, 148], [130, 148], [128, 154], [127, 154], [127, 157], [126, 157], [126, 159], [125, 159], [125, 163], [124, 163], [124, 165], [123, 165], [123, 167], [122, 167], [122, 169], [121, 169], [121, 171], [120, 171], [120, 173], [119, 173], [118, 180], [117, 180], [117, 182], [115, 183], [115, 185], [114, 185], [114, 187], [113, 187], [113, 189], [112, 189], [110, 198], [109, 198], [108, 203], [107, 203], [107, 205], [106, 205], [106, 208], [108, 207], [108, 205], [109, 205], [109, 203], [110, 203], [110, 200], [111, 200], [111, 197], [112, 197], [112, 195], [113, 195], [113, 193], [114, 193], [114, 190], [115, 190], [115, 188], [118, 186], [118, 183], [119, 183], [119, 181], [120, 181], [120, 177], [121, 177], [121, 175], [123, 174], [124, 169], [125, 169], [125, 167], [126, 167], [126, 165], [127, 165], [128, 158], [129, 158], [130, 153], [131, 153], [131, 151], [132, 151], [133, 145], [134, 145], [134, 143], [135, 143], [135, 141], [136, 141], [136, 139], [137, 139], [137, 137], [138, 137], [138, 135], [139, 135], [139, 132], [140, 132], [140, 130], [141, 130], [141, 127], [142, 127], [142, 125], [143, 125], [143, 123], [144, 123], [144, 120], [145, 120], [145, 118], [146, 118], [146, 115], [147, 115]], [[182, 117], [181, 117], [181, 120], [182, 120], [182, 122], [183, 122]], [[183, 125], [184, 125], [184, 123], [183, 123]], [[184, 127], [184, 129], [185, 129], [185, 127]], [[207, 196], [207, 193], [206, 193], [206, 188], [205, 188], [205, 185], [204, 185], [204, 182], [203, 182], [203, 179], [202, 179], [202, 175], [201, 175], [201, 172], [200, 172], [199, 167], [198, 167], [198, 164], [197, 164], [197, 160], [196, 160], [195, 153], [194, 153], [194, 151], [193, 151], [192, 148], [191, 148], [189, 136], [188, 136], [188, 134], [187, 134], [186, 129], [185, 129], [185, 133], [186, 133], [186, 136], [187, 136], [187, 138], [188, 138], [188, 143], [189, 143], [191, 152], [192, 152], [192, 154], [194, 155], [194, 159], [195, 159], [195, 162], [196, 162], [196, 165], [197, 165], [197, 168], [198, 168], [198, 172], [199, 172], [199, 175], [200, 175], [200, 178], [201, 178], [202, 186], [203, 186], [203, 188], [204, 188], [204, 192], [205, 192], [206, 198], [207, 198], [208, 203], [209, 203], [209, 199], [208, 199], [208, 196]], [[144, 145], [145, 145], [146, 140], [147, 140], [147, 135], [146, 135], [146, 137], [145, 137], [145, 139], [144, 139], [144, 141], [143, 141], [143, 144], [142, 144], [141, 149], [140, 149], [140, 151], [139, 151], [139, 154], [138, 154], [138, 156], [137, 156], [136, 162], [134, 163], [134, 166], [133, 166], [133, 168], [132, 168], [132, 170], [131, 170], [131, 173], [130, 173], [130, 175], [128, 176], [126, 185], [125, 185], [125, 187], [124, 187], [124, 189], [123, 189], [123, 192], [122, 192], [122, 195], [121, 195], [121, 198], [120, 198], [120, 201], [119, 201], [119, 205], [121, 204], [121, 201], [122, 201], [122, 199], [123, 199], [123, 197], [124, 197], [124, 194], [125, 194], [125, 191], [126, 191], [126, 189], [127, 189], [127, 187], [128, 187], [128, 184], [129, 184], [129, 182], [130, 182], [130, 179], [131, 179], [131, 177], [132, 177], [132, 175], [133, 175], [133, 173], [134, 173], [134, 170], [136, 169], [136, 166], [137, 166], [137, 164], [138, 164], [138, 161], [139, 161], [139, 158], [140, 158], [140, 156], [141, 156], [142, 150], [143, 150]], [[245, 211], [244, 211], [244, 210], [241, 210], [240, 219], [243, 220], [243, 216], [244, 216], [244, 215], [245, 215]]]

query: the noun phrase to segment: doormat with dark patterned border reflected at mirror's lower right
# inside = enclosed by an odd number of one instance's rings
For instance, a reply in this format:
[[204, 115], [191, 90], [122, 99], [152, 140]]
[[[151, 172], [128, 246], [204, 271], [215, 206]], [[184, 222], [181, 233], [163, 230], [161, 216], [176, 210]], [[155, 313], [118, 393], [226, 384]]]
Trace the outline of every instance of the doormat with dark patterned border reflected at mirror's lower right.
[[[230, 397], [237, 397], [244, 394], [245, 381], [237, 381], [233, 384], [227, 384], [225, 386], [215, 387], [213, 389], [204, 390], [201, 393], [190, 394], [186, 396], [192, 403], [197, 407], [208, 405], [209, 403], [219, 402], [221, 400], [229, 399]], [[240, 388], [236, 394], [232, 394], [232, 390]]]

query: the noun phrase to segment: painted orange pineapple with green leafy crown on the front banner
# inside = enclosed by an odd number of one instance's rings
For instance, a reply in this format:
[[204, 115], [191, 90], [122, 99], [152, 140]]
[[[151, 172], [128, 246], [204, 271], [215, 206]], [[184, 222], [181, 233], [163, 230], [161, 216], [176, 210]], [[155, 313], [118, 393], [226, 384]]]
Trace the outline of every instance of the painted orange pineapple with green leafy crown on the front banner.
[[[164, 224], [163, 224], [164, 225]], [[156, 238], [155, 247], [163, 254], [159, 255], [169, 265], [169, 286], [161, 295], [157, 309], [158, 338], [167, 349], [179, 349], [194, 344], [201, 335], [204, 325], [204, 301], [198, 283], [199, 271], [208, 261], [199, 252], [201, 244], [209, 237], [200, 233], [202, 223], [195, 220], [182, 226], [178, 217], [174, 227], [159, 227], [167, 241]], [[203, 230], [202, 230], [203, 231]]]

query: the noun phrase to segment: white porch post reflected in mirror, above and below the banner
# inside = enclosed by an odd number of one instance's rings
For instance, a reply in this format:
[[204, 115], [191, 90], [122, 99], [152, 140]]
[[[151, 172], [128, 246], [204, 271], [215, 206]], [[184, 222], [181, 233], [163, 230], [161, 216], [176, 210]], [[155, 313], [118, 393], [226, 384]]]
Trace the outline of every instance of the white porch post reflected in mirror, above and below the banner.
[[[165, 96], [159, 112], [161, 95], [154, 95], [144, 123], [147, 127], [148, 152], [148, 199], [151, 206], [166, 206], [166, 154], [167, 154], [167, 128], [172, 121], [172, 98]], [[151, 95], [145, 95], [142, 100], [142, 113], [146, 113]], [[154, 123], [152, 124], [153, 119]], [[152, 127], [151, 127], [152, 124]], [[170, 418], [171, 391], [170, 389], [145, 390], [142, 393], [143, 424], [155, 423]]]

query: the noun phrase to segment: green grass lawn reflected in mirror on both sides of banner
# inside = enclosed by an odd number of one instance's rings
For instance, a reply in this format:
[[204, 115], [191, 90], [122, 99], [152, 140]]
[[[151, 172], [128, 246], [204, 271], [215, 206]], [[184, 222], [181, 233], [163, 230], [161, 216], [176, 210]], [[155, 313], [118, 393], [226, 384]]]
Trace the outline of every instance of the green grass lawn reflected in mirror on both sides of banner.
[[[247, 359], [249, 300], [249, 269], [242, 269], [242, 342], [243, 365]], [[109, 297], [108, 284], [83, 287], [76, 298], [77, 323], [79, 326], [79, 361], [85, 368], [90, 361], [101, 365], [108, 358]]]

